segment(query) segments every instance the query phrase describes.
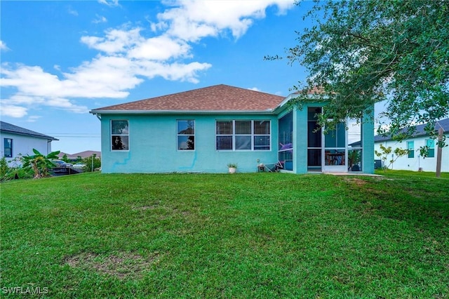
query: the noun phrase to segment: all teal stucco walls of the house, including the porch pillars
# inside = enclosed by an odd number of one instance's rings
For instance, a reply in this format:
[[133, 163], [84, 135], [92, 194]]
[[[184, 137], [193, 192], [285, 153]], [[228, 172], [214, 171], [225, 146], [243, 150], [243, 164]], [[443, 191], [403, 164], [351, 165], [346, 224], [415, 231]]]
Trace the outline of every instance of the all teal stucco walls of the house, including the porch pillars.
[[[307, 173], [307, 107], [321, 107], [323, 102], [310, 102], [293, 113], [293, 173]], [[238, 164], [238, 172], [255, 172], [257, 164], [278, 161], [278, 115], [197, 114], [127, 114], [101, 116], [103, 173], [226, 173], [227, 164]], [[111, 119], [129, 121], [129, 150], [111, 149]], [[195, 120], [195, 150], [177, 150], [177, 119]], [[257, 151], [219, 151], [215, 149], [215, 121], [270, 120], [271, 149]], [[374, 128], [367, 116], [363, 124], [363, 173], [373, 173]]]

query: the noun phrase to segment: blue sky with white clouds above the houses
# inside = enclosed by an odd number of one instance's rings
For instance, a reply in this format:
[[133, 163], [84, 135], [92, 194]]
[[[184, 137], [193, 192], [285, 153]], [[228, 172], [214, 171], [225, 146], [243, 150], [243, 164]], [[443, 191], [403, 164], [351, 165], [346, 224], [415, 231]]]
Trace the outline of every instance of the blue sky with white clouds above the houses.
[[227, 84], [277, 95], [304, 81], [286, 60], [312, 5], [293, 1], [0, 1], [1, 119], [100, 150], [98, 107]]

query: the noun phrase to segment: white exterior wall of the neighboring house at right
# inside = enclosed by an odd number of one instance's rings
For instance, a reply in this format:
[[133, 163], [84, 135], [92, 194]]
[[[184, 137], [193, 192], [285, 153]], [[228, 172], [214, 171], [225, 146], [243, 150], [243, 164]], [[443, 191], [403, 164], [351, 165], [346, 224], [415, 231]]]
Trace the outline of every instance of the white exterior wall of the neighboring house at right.
[[[447, 140], [449, 140], [449, 134], [445, 134]], [[394, 164], [389, 168], [396, 170], [404, 170], [404, 171], [418, 171], [419, 168], [422, 168], [423, 171], [436, 171], [436, 155], [437, 155], [437, 146], [435, 145], [435, 157], [434, 158], [423, 158], [420, 157], [420, 147], [425, 145], [425, 140], [429, 139], [428, 136], [420, 137], [420, 138], [411, 138], [409, 140], [404, 140], [403, 142], [397, 142], [394, 140], [387, 140], [384, 142], [376, 142], [375, 150], [380, 151], [380, 144], [385, 147], [391, 147], [392, 150], [396, 149], [396, 147], [401, 147], [403, 150], [407, 149], [407, 141], [414, 141], [415, 145], [415, 157], [408, 158], [408, 156], [399, 157]], [[379, 157], [375, 157], [375, 159], [380, 159]], [[389, 155], [387, 161], [391, 159], [391, 154]], [[389, 162], [387, 162], [389, 164]], [[442, 150], [442, 159], [441, 159], [441, 171], [449, 172], [449, 147], [443, 147]]]

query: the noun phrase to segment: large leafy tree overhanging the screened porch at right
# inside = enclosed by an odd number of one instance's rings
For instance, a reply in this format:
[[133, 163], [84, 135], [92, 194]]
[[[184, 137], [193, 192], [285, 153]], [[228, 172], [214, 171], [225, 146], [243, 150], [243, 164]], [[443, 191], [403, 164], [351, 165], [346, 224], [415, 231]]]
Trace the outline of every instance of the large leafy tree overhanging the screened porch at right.
[[388, 100], [384, 116], [396, 139], [406, 137], [403, 128], [410, 124], [427, 123], [434, 133], [435, 121], [449, 112], [448, 4], [315, 1], [304, 15], [312, 26], [297, 32], [298, 45], [286, 55], [309, 71], [307, 82], [295, 86], [302, 91], [298, 101], [320, 86], [329, 98], [324, 124], [359, 118], [363, 109]]

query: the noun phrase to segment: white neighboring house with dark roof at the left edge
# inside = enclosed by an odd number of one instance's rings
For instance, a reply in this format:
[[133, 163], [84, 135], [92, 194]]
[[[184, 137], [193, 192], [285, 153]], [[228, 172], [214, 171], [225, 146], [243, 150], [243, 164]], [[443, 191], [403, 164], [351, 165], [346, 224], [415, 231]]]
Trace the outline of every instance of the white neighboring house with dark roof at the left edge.
[[51, 152], [51, 142], [58, 139], [0, 121], [0, 140], [1, 157], [11, 161], [19, 154], [33, 155], [33, 149], [47, 155]]

